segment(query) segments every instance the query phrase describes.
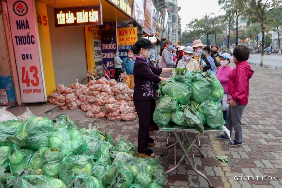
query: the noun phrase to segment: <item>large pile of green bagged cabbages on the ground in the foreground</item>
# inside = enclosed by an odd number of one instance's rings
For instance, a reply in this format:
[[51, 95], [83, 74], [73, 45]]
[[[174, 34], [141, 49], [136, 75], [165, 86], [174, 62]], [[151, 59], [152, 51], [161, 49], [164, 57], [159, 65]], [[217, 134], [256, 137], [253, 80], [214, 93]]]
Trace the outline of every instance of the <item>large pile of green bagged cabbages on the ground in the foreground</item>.
[[[177, 109], [175, 98], [164, 99]], [[91, 124], [78, 130], [63, 115], [0, 122], [1, 188], [160, 188], [164, 179], [157, 159], [136, 158], [131, 142], [114, 145]]]

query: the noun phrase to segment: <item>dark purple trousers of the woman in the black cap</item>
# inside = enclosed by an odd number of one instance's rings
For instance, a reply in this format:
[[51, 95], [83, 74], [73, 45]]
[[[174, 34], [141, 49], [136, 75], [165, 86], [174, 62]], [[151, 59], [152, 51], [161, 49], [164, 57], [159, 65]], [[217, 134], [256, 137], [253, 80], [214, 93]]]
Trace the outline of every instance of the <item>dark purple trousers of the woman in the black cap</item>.
[[150, 125], [155, 125], [153, 114], [156, 108], [156, 100], [133, 100], [139, 118], [138, 153], [146, 153], [149, 143]]

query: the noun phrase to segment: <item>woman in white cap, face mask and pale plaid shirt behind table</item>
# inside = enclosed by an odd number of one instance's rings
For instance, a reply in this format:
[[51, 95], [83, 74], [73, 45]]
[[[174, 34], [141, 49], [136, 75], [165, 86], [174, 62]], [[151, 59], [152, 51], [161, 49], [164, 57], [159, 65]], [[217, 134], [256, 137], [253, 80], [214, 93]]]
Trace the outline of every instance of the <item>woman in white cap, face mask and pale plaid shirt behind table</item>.
[[182, 59], [178, 61], [177, 67], [187, 67], [190, 71], [200, 70], [198, 61], [194, 60], [192, 56], [193, 48], [191, 46], [185, 47]]

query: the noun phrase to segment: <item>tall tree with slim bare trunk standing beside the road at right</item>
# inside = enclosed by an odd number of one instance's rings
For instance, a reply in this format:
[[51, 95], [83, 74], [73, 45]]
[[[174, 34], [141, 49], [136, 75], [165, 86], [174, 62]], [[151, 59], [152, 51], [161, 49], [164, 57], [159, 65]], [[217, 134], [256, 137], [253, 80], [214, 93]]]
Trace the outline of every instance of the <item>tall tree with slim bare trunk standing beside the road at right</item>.
[[262, 30], [262, 46], [261, 46], [261, 60], [260, 65], [264, 65], [264, 32], [266, 31], [267, 24], [269, 24], [269, 13], [275, 8], [278, 8], [282, 0], [248, 0], [247, 12], [249, 13], [249, 19], [261, 24]]

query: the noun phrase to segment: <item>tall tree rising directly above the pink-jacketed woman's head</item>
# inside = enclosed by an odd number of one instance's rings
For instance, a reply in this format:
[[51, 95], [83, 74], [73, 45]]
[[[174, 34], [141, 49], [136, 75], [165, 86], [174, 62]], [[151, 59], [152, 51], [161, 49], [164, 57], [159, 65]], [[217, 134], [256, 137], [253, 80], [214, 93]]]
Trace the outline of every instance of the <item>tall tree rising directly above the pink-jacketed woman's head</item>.
[[243, 14], [246, 0], [218, 0], [218, 4], [236, 15], [236, 46], [238, 46], [238, 18]]

